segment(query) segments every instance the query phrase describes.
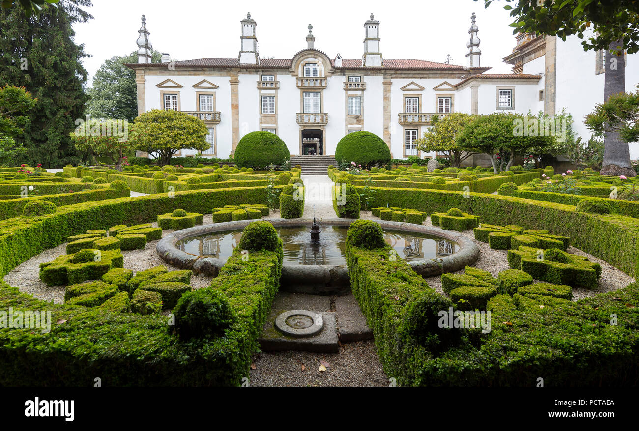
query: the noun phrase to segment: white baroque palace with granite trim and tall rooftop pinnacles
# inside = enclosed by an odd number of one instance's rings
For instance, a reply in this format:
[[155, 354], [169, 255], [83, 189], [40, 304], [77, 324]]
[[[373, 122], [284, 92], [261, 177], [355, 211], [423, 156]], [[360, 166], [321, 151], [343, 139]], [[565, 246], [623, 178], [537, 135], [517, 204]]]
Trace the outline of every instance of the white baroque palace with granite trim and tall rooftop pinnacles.
[[[174, 109], [204, 121], [211, 146], [202, 156], [227, 158], [242, 136], [255, 130], [279, 135], [291, 155], [334, 155], [346, 133], [367, 130], [383, 138], [393, 158], [434, 156], [418, 151], [414, 142], [435, 114], [543, 110], [553, 115], [562, 107], [573, 114], [577, 132], [587, 139], [590, 134], [580, 119], [603, 100], [604, 56], [584, 52], [570, 39], [520, 34], [516, 48], [504, 59], [513, 73], [486, 73], [490, 68], [480, 65], [474, 13], [465, 66], [384, 59], [380, 22], [373, 14], [364, 23], [361, 59], [343, 59], [340, 54], [330, 58], [315, 49], [310, 24], [307, 47], [292, 59], [261, 59], [256, 21], [249, 13], [240, 23], [237, 58], [171, 61], [164, 54], [162, 63], [151, 63], [150, 33], [142, 16], [138, 63], [127, 64], [136, 74], [139, 113]], [[634, 57], [627, 56], [627, 89], [638, 78], [628, 73], [637, 70]], [[558, 58], [569, 61], [565, 70], [558, 68]], [[580, 77], [580, 68], [592, 77]], [[638, 151], [631, 148], [632, 153]], [[183, 150], [180, 155], [195, 154]]]

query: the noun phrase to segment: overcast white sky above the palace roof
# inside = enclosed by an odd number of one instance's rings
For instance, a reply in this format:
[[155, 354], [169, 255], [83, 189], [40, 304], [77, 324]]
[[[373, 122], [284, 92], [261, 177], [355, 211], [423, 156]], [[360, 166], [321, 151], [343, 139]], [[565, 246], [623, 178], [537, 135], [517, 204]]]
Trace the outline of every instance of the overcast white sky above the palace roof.
[[[369, 1], [203, 1], [93, 0], [95, 17], [75, 25], [75, 42], [93, 57], [84, 60], [93, 74], [105, 59], [137, 49], [141, 15], [146, 15], [153, 48], [175, 60], [202, 57], [236, 58], [240, 50], [240, 20], [250, 11], [256, 20], [260, 57], [292, 58], [306, 47], [307, 26], [313, 25], [316, 49], [330, 58], [360, 59], [364, 52], [364, 22], [374, 13], [380, 20], [380, 46], [385, 59], [423, 59], [467, 64], [470, 15], [477, 14], [481, 65], [490, 73], [511, 73], [502, 58], [515, 45], [509, 11], [503, 1], [484, 9], [472, 0]], [[543, 71], [539, 71], [543, 72]]]

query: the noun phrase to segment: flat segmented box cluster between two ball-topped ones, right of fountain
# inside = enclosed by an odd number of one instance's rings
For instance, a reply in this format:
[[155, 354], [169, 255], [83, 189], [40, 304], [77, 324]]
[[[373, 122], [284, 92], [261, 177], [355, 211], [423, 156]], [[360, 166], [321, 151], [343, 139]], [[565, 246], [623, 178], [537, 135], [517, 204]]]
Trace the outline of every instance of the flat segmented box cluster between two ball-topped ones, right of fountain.
[[528, 229], [521, 226], [498, 226], [482, 223], [473, 229], [475, 239], [488, 243], [496, 250], [517, 249], [520, 245], [536, 248], [559, 248], [566, 251], [570, 246], [570, 238], [551, 235], [544, 229]]

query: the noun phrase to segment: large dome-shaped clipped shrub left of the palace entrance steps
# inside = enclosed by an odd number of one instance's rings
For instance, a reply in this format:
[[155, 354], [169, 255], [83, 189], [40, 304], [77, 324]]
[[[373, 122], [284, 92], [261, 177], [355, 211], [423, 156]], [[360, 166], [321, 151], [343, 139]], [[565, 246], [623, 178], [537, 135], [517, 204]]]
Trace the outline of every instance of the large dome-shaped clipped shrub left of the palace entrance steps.
[[[235, 149], [235, 164], [264, 170], [268, 165], [282, 165], [291, 158], [284, 141], [275, 133], [250, 132], [240, 139]], [[226, 165], [224, 165], [226, 166]]]

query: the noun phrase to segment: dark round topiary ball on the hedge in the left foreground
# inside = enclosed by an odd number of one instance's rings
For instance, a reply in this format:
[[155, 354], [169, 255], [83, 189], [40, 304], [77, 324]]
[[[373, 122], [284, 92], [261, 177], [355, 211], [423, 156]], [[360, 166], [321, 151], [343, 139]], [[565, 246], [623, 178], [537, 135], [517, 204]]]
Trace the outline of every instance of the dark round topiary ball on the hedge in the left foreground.
[[221, 335], [235, 321], [226, 295], [215, 289], [186, 292], [178, 299], [173, 314], [175, 331], [184, 340]]

